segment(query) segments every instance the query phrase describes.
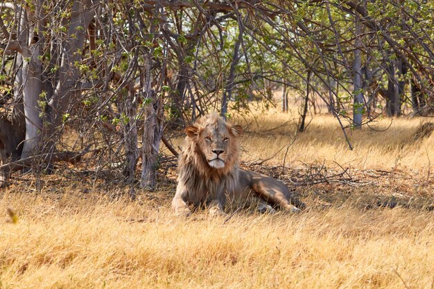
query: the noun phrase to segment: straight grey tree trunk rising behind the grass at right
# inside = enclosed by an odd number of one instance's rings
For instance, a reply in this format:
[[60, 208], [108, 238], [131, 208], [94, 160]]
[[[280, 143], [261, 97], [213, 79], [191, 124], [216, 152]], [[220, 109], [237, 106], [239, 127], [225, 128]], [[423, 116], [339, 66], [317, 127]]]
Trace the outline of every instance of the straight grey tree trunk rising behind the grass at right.
[[356, 16], [354, 21], [356, 25], [356, 49], [354, 49], [354, 115], [353, 125], [354, 128], [362, 127], [362, 112], [363, 112], [363, 94], [362, 89], [362, 56], [361, 51], [358, 49], [361, 46], [361, 24], [360, 19]]

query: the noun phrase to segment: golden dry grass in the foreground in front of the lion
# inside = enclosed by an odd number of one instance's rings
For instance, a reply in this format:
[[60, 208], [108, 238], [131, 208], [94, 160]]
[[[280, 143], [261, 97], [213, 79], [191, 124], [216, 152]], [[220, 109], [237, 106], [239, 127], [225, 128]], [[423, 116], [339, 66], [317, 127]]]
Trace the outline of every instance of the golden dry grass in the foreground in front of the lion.
[[229, 222], [168, 206], [6, 194], [1, 288], [433, 288], [433, 213], [340, 207]]

